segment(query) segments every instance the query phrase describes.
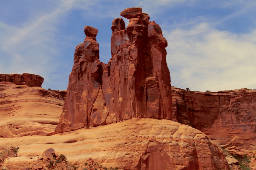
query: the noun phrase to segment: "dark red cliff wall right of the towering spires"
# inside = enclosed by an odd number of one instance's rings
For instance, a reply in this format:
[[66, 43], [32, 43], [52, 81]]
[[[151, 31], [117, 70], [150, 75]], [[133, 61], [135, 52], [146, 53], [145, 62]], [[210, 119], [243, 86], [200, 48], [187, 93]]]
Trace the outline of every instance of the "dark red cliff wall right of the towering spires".
[[199, 129], [230, 153], [256, 150], [256, 90], [186, 91], [172, 87], [173, 120]]

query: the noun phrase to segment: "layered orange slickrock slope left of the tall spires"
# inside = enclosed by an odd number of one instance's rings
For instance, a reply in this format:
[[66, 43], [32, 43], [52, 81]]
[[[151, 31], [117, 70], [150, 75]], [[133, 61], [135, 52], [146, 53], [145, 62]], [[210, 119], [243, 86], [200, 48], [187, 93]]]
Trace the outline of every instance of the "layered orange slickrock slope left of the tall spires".
[[0, 84], [0, 137], [53, 134], [62, 112], [65, 91]]

